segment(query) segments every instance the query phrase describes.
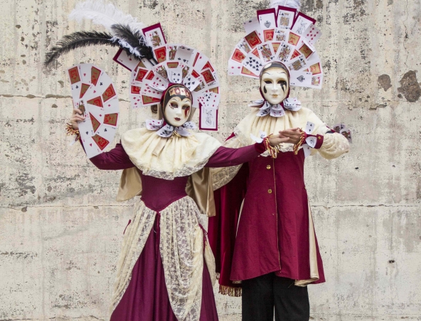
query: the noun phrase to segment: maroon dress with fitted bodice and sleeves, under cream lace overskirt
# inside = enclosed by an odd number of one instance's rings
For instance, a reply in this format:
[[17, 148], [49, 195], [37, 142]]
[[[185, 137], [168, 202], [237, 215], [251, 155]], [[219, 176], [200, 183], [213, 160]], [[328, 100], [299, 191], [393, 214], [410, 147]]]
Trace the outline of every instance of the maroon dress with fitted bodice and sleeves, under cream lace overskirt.
[[[263, 144], [244, 148], [220, 147], [210, 157], [207, 167], [227, 167], [245, 163], [265, 151]], [[122, 170], [134, 167], [121, 144], [107, 153], [90, 158], [102, 170]], [[142, 201], [146, 207], [159, 213], [172, 202], [186, 196], [188, 176], [163, 180], [142, 175]], [[164, 278], [164, 267], [159, 252], [159, 215], [156, 215], [144, 249], [132, 270], [132, 278], [117, 308], [112, 321], [177, 321], [171, 310]], [[213, 285], [206, 264], [203, 266], [203, 288], [201, 321], [216, 321], [218, 315], [213, 295]]]

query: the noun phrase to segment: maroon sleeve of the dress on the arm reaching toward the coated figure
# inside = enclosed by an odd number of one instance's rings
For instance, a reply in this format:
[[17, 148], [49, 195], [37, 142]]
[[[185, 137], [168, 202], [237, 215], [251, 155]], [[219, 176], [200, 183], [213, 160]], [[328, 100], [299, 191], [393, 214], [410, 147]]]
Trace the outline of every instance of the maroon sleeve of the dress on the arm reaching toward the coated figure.
[[263, 143], [255, 143], [254, 145], [241, 148], [227, 148], [221, 146], [209, 158], [206, 167], [229, 167], [247, 163], [249, 160], [259, 156], [265, 152]]

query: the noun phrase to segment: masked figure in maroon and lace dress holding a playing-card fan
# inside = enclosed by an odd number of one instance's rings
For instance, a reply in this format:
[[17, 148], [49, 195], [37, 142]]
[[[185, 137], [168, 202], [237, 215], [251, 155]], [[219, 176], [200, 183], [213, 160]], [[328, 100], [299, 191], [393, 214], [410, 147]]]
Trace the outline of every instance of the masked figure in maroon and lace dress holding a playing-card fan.
[[217, 124], [218, 75], [205, 55], [166, 43], [159, 23], [143, 26], [112, 4], [86, 1], [70, 16], [89, 18], [108, 31], [65, 36], [47, 54], [46, 66], [87, 45], [117, 47], [114, 61], [132, 72], [132, 107], [157, 105], [157, 119], [125, 132], [121, 143], [105, 152], [119, 119], [117, 90], [100, 67], [68, 69], [74, 107], [69, 134], [77, 135], [97, 168], [123, 170], [118, 201], [137, 197], [117, 264], [111, 320], [218, 320], [215, 261], [203, 229], [204, 214], [215, 214], [210, 168], [250, 161], [281, 138], [226, 148], [192, 131], [197, 108], [210, 115], [201, 117], [201, 128]]

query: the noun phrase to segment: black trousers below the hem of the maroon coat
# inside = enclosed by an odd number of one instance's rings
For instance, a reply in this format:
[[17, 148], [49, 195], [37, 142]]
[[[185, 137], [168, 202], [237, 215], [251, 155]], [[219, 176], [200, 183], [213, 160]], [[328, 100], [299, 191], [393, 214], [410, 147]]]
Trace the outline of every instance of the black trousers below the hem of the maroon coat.
[[243, 281], [243, 321], [309, 321], [307, 286], [275, 273]]

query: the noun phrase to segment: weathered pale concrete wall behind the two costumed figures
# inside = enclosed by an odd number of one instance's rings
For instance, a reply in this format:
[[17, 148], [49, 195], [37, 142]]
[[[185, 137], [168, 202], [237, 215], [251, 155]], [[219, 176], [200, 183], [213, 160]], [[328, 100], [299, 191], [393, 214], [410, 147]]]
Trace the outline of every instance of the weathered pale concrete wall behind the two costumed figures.
[[[223, 88], [222, 140], [259, 97], [228, 78], [242, 23], [268, 0], [121, 0], [173, 43], [203, 50]], [[119, 173], [68, 146], [65, 68], [93, 62], [119, 87], [118, 137], [148, 112], [129, 107], [129, 73], [114, 50], [78, 50], [47, 73], [46, 50], [91, 28], [67, 21], [73, 0], [0, 0], [0, 320], [107, 320], [122, 232], [132, 203], [114, 202]], [[324, 35], [324, 89], [294, 89], [328, 124], [353, 130], [352, 150], [307, 160], [307, 190], [327, 282], [310, 286], [311, 320], [421, 320], [421, 89], [419, 0], [304, 0]], [[174, 22], [178, 23], [176, 26]], [[240, 300], [217, 295], [221, 320]]]

